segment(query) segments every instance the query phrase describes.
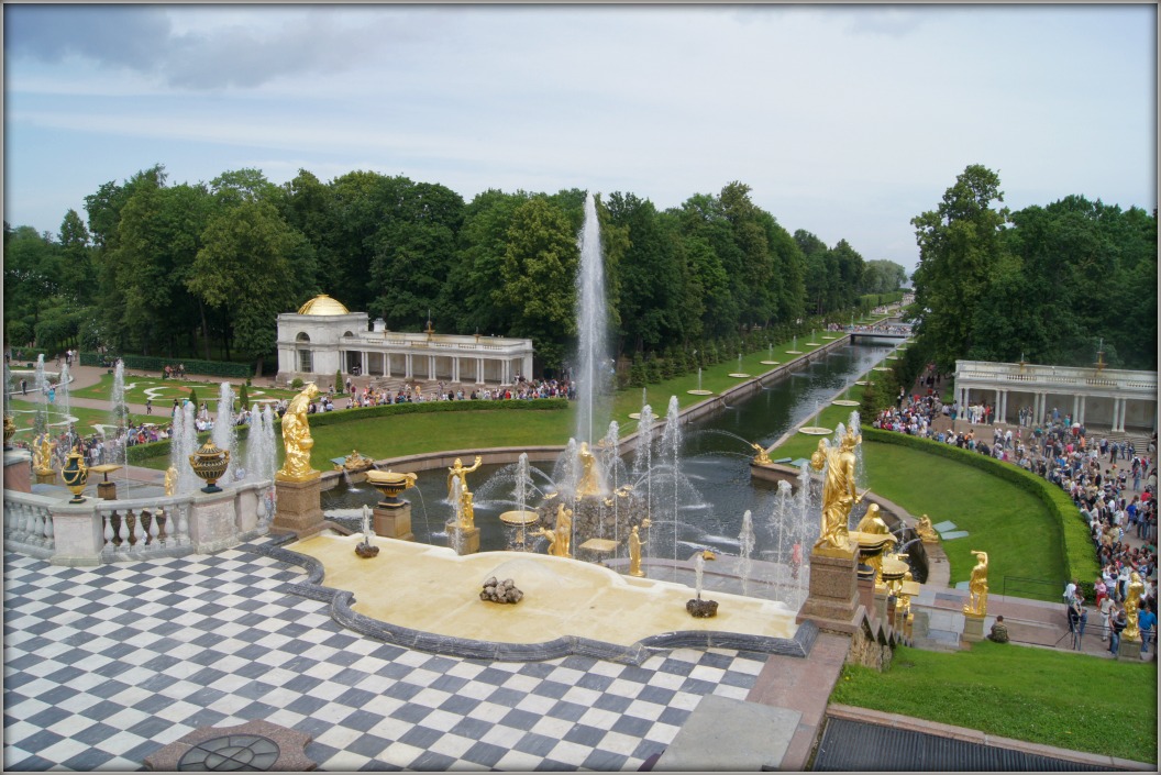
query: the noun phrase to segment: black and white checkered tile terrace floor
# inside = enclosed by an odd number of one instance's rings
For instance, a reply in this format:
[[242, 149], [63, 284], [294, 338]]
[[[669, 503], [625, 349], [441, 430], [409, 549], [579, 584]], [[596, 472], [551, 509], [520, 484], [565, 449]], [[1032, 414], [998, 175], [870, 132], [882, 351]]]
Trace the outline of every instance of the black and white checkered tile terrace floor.
[[319, 769], [635, 770], [764, 654], [488, 662], [342, 630], [244, 551], [93, 568], [5, 555], [6, 769], [135, 770], [200, 726], [308, 732]]

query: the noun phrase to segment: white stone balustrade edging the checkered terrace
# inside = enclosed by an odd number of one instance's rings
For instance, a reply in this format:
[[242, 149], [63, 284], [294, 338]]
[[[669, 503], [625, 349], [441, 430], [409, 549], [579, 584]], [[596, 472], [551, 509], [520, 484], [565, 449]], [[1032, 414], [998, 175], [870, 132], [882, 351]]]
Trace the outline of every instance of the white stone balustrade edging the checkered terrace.
[[5, 548], [57, 565], [209, 553], [266, 531], [271, 483], [219, 493], [70, 504], [5, 490]]

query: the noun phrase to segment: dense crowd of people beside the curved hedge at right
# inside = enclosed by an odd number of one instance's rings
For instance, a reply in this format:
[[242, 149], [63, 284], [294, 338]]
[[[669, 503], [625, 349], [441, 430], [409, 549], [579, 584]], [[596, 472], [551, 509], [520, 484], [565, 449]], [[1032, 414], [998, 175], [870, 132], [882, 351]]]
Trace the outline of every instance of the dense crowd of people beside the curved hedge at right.
[[[1041, 423], [1033, 422], [1031, 412], [1021, 412], [1021, 425], [1015, 428], [989, 427], [985, 425], [989, 408], [966, 407], [968, 428], [957, 432], [954, 425], [949, 428], [937, 420], [960, 417], [960, 407], [945, 406], [929, 390], [926, 396], [901, 394], [871, 425], [989, 455], [1059, 486], [1088, 524], [1102, 568], [1093, 581], [1093, 600], [1084, 599], [1075, 580], [1065, 592], [1074, 647], [1080, 649], [1091, 604], [1099, 613], [1102, 640], [1112, 653], [1130, 616], [1137, 617], [1147, 653], [1156, 637], [1158, 610], [1156, 434], [1147, 449], [1138, 450], [1132, 441], [1093, 439], [1087, 428], [1055, 410]], [[1135, 591], [1131, 588], [1134, 573], [1141, 580]]]

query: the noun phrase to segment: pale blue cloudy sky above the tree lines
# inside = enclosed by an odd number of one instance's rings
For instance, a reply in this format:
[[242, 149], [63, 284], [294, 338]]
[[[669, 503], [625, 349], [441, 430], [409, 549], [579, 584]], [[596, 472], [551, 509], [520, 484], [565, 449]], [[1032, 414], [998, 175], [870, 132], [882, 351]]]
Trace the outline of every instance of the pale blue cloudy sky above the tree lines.
[[355, 169], [489, 188], [731, 181], [914, 270], [968, 165], [1018, 210], [1156, 207], [1156, 7], [5, 5], [3, 218], [168, 182]]

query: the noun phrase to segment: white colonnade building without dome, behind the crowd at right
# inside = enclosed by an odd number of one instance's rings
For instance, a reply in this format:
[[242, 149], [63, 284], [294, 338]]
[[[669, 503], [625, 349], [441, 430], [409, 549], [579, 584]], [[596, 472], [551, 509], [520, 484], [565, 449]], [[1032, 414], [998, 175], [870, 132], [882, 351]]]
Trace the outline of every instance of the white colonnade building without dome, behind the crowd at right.
[[1057, 410], [1061, 420], [1112, 433], [1158, 429], [1156, 371], [956, 361], [956, 400], [995, 406], [996, 422], [1015, 425], [1023, 407], [1034, 422]]

